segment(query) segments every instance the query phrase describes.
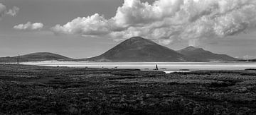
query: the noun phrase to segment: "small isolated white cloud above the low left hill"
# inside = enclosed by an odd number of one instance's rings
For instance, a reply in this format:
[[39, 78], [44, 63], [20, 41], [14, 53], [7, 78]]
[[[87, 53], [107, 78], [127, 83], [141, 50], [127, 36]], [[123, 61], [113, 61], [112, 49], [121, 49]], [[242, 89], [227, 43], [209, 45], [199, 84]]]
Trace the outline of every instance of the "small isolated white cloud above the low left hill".
[[16, 30], [41, 30], [43, 28], [43, 23], [31, 23], [15, 25]]

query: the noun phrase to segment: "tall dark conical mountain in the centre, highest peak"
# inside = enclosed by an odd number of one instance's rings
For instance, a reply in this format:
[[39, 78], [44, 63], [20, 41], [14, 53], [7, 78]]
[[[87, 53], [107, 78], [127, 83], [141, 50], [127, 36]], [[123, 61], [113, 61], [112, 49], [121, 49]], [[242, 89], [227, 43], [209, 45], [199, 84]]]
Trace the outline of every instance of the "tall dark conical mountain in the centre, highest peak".
[[157, 62], [157, 61], [193, 61], [178, 52], [163, 47], [142, 37], [132, 37], [118, 44], [100, 56], [79, 61], [114, 61], [114, 62]]

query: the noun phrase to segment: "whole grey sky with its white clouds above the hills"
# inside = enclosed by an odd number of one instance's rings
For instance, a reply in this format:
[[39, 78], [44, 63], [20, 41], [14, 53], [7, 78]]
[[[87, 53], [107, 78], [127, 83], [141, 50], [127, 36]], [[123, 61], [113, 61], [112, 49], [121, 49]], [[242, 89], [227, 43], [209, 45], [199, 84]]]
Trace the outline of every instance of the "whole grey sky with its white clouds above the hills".
[[0, 56], [82, 59], [142, 36], [256, 59], [255, 27], [255, 0], [0, 0]]

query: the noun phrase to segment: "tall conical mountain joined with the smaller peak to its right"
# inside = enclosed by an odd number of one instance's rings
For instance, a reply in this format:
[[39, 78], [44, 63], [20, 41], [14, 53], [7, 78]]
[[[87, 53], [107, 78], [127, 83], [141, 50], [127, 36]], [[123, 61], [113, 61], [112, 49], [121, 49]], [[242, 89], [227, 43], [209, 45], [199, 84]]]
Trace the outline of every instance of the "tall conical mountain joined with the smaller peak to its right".
[[81, 61], [115, 61], [115, 62], [175, 62], [175, 61], [230, 61], [233, 57], [223, 54], [213, 54], [202, 48], [186, 47], [174, 51], [168, 47], [156, 44], [143, 37], [132, 37], [100, 56]]

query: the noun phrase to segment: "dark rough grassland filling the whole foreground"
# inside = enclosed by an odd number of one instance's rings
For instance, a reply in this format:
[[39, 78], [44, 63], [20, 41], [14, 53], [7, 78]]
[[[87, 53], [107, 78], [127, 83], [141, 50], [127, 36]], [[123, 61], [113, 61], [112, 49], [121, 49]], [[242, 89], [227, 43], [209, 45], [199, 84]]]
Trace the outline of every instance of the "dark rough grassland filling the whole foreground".
[[255, 73], [0, 65], [0, 114], [256, 114]]

